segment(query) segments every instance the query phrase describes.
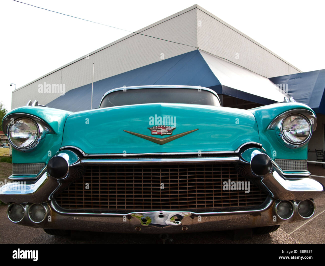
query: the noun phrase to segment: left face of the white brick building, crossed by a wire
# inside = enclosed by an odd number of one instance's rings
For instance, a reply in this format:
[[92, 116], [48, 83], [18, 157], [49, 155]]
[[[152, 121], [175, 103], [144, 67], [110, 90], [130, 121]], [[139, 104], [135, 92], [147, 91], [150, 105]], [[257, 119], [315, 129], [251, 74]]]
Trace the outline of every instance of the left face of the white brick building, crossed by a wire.
[[59, 93], [38, 92], [38, 85], [44, 82], [64, 84], [65, 92], [91, 83], [93, 63], [95, 64], [95, 82], [155, 63], [162, 60], [162, 54], [163, 59], [168, 59], [195, 50], [197, 46], [196, 9], [193, 7], [185, 9], [138, 32], [189, 46], [132, 33], [94, 51], [89, 54], [88, 59], [83, 57], [75, 60], [13, 91], [12, 109], [26, 105], [28, 100], [38, 100], [39, 104], [47, 104], [58, 98]]

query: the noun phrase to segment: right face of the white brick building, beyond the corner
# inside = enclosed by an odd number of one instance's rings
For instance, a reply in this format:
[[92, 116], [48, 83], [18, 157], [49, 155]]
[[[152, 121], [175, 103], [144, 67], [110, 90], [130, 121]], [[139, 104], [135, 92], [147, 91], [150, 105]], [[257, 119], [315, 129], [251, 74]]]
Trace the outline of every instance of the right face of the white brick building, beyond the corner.
[[267, 78], [301, 72], [201, 7], [197, 22], [198, 47], [203, 51]]

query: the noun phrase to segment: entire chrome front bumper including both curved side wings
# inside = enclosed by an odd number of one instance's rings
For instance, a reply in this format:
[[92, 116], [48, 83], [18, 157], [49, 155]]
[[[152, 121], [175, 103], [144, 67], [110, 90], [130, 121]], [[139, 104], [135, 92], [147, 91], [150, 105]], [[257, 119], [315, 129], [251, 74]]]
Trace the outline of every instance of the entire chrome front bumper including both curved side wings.
[[[218, 157], [217, 160], [229, 162], [229, 158], [232, 162], [241, 160], [236, 156]], [[209, 161], [211, 160], [209, 158]], [[69, 158], [67, 162], [69, 166], [76, 164]], [[21, 203], [25, 209], [24, 217], [18, 222], [13, 222], [31, 227], [114, 233], [182, 233], [272, 226], [304, 220], [306, 218], [301, 217], [297, 211], [297, 202], [315, 199], [324, 193], [324, 184], [308, 176], [283, 176], [277, 166], [273, 165], [271, 171], [259, 179], [260, 185], [265, 186], [270, 195], [260, 209], [207, 213], [182, 210], [127, 214], [76, 213], [61, 209], [53, 196], [58, 189], [73, 181], [69, 178], [72, 177], [68, 175], [55, 179], [48, 175], [45, 168], [36, 182], [11, 183], [1, 187], [0, 200], [5, 203]], [[294, 212], [289, 219], [281, 219], [275, 211], [275, 206], [280, 200], [292, 203]], [[33, 222], [29, 217], [29, 207], [35, 203], [42, 204], [46, 210], [45, 219], [41, 222]]]

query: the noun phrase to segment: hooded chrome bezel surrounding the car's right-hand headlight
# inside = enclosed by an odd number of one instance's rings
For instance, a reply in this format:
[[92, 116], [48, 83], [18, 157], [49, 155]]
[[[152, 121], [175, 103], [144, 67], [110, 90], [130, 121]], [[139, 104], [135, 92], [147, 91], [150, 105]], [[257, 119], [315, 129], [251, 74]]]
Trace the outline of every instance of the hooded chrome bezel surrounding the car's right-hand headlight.
[[[283, 131], [282, 131], [283, 120], [285, 118], [287, 118], [289, 115], [294, 115], [294, 114], [303, 116], [309, 123], [309, 126], [311, 127], [310, 134], [309, 134], [308, 138], [304, 142], [299, 143], [299, 144], [292, 143], [292, 142], [288, 141], [285, 138]], [[287, 112], [284, 112], [284, 113], [278, 115], [276, 118], [274, 118], [272, 120], [272, 122], [266, 129], [267, 130], [273, 129], [278, 140], [284, 146], [291, 148], [291, 149], [297, 149], [297, 148], [305, 146], [309, 142], [312, 132], [316, 130], [316, 127], [317, 127], [317, 118], [313, 112], [306, 110], [306, 109], [293, 109], [293, 110], [290, 110], [290, 111], [287, 111]]]

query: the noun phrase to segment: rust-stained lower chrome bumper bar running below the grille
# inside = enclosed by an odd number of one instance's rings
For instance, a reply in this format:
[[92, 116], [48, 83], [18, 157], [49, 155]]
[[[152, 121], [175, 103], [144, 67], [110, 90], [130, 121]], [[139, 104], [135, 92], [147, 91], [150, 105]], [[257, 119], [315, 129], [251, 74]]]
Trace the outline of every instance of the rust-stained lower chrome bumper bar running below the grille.
[[[275, 212], [276, 204], [276, 201], [269, 198], [262, 209], [254, 211], [194, 213], [162, 210], [128, 214], [85, 214], [62, 212], [58, 209], [56, 203], [51, 201], [43, 204], [46, 209], [46, 218], [39, 223], [32, 222], [29, 219], [28, 209], [30, 205], [23, 205], [25, 217], [19, 224], [77, 231], [160, 234], [244, 229], [272, 226], [304, 219], [298, 214], [296, 204], [294, 204], [295, 211], [291, 219], [283, 220], [279, 218]], [[49, 221], [49, 218], [51, 218], [51, 221]]]

